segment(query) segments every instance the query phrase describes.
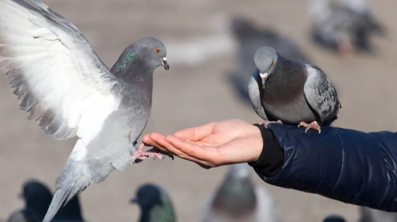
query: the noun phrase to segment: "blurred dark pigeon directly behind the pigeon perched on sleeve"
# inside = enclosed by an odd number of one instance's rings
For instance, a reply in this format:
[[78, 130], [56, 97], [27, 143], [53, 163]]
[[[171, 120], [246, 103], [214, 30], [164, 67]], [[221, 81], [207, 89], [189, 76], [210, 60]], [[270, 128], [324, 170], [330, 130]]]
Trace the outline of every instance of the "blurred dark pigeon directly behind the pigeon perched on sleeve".
[[231, 20], [231, 32], [238, 44], [239, 67], [228, 73], [228, 79], [237, 94], [247, 102], [248, 83], [256, 69], [252, 57], [258, 48], [272, 46], [287, 59], [309, 62], [306, 55], [290, 39], [269, 28], [259, 29], [244, 17], [234, 17]]

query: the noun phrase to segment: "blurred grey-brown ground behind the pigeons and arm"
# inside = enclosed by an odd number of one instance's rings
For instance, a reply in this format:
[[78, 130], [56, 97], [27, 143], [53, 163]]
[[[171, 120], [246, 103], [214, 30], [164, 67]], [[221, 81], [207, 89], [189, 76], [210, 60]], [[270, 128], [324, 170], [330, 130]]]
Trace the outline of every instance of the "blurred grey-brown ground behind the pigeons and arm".
[[[196, 38], [227, 35], [230, 15], [247, 15], [260, 25], [275, 27], [293, 38], [336, 85], [342, 102], [336, 126], [364, 131], [396, 131], [397, 27], [395, 0], [370, 1], [374, 14], [386, 24], [386, 40], [376, 39], [376, 56], [356, 55], [349, 59], [314, 46], [308, 39], [308, 0], [47, 0], [51, 8], [70, 19], [87, 36], [102, 60], [111, 66], [131, 42], [148, 35], [168, 47], [170, 71], [157, 69], [154, 77], [152, 115], [145, 132], [173, 133], [214, 120], [241, 118], [257, 122], [252, 108], [239, 101], [224, 78], [233, 69], [234, 48], [218, 48], [190, 58], [183, 64], [181, 53], [197, 54], [189, 48]], [[192, 42], [192, 43], [189, 43]], [[221, 43], [224, 41], [220, 41]], [[179, 44], [180, 43], [180, 44]], [[189, 52], [189, 50], [193, 50]], [[211, 53], [218, 55], [210, 56]], [[175, 62], [173, 56], [175, 55]], [[201, 58], [202, 59], [202, 58]], [[196, 64], [194, 64], [196, 62]], [[56, 178], [74, 145], [74, 140], [46, 137], [34, 122], [18, 110], [4, 75], [0, 77], [0, 220], [23, 203], [17, 199], [21, 183], [36, 178], [54, 189]], [[198, 221], [205, 200], [223, 179], [226, 167], [204, 170], [175, 159], [147, 160], [114, 172], [100, 184], [81, 194], [85, 218], [92, 222], [136, 221], [138, 208], [128, 203], [137, 186], [154, 182], [170, 193], [179, 221]], [[358, 218], [357, 207], [319, 195], [266, 186], [280, 208], [283, 221], [320, 222], [331, 213], [350, 222]]]

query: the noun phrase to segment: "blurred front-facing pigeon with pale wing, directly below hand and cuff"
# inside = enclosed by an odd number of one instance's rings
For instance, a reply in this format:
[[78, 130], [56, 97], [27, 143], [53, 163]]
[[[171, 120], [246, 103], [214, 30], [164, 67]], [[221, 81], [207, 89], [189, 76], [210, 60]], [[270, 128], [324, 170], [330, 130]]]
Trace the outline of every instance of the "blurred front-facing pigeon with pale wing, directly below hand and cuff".
[[204, 208], [203, 222], [279, 222], [276, 205], [266, 189], [252, 184], [248, 164], [234, 164]]

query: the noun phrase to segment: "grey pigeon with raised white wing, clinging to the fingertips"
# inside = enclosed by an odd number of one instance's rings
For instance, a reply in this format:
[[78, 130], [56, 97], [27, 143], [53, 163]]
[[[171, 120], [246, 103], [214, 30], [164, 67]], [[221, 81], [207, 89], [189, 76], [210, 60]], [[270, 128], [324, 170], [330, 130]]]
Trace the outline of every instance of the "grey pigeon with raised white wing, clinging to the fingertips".
[[39, 0], [0, 0], [0, 30], [0, 68], [19, 108], [46, 135], [79, 137], [44, 222], [113, 170], [160, 158], [137, 139], [150, 115], [153, 71], [169, 69], [162, 42], [134, 42], [109, 70], [84, 35]]

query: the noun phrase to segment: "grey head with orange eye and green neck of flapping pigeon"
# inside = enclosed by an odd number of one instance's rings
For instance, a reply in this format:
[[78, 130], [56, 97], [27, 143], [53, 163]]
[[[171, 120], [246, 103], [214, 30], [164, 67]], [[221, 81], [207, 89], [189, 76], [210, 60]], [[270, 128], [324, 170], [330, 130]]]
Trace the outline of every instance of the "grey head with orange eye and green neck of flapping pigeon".
[[[123, 71], [140, 72], [148, 71], [152, 73], [154, 69], [163, 66], [164, 69], [170, 69], [167, 62], [167, 50], [164, 44], [153, 37], [145, 37], [130, 44], [121, 54], [116, 64], [110, 69], [114, 75], [124, 73]], [[132, 66], [139, 64], [139, 66]], [[130, 67], [141, 67], [143, 70], [129, 70]]]

